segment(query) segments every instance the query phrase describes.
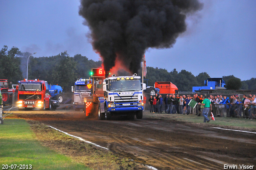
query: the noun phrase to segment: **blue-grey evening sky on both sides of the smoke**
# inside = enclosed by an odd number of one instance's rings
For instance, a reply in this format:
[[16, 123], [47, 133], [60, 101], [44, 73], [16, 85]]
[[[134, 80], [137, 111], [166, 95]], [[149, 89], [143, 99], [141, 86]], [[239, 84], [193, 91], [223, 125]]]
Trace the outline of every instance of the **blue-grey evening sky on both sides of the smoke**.
[[[170, 49], [148, 49], [146, 65], [197, 76], [256, 78], [256, 0], [205, 0], [187, 18], [187, 31]], [[0, 0], [0, 48], [18, 47], [34, 57], [65, 50], [100, 60], [78, 15], [80, 0]], [[172, 81], [172, 80], [170, 80]]]

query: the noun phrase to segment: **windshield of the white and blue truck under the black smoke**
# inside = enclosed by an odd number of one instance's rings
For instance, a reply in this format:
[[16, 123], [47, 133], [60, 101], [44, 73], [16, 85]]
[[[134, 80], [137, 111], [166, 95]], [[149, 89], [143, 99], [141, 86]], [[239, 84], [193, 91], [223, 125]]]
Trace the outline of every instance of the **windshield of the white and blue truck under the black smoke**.
[[124, 91], [139, 91], [141, 90], [140, 80], [110, 80], [109, 91], [124, 92]]

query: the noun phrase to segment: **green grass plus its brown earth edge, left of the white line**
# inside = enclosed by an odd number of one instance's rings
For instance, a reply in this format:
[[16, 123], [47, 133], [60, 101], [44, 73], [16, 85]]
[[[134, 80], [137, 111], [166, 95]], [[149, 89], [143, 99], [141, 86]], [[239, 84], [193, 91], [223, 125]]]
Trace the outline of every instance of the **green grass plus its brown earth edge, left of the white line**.
[[0, 165], [3, 164], [31, 164], [34, 170], [145, 168], [130, 158], [99, 149], [38, 121], [15, 118], [6, 118], [0, 125]]

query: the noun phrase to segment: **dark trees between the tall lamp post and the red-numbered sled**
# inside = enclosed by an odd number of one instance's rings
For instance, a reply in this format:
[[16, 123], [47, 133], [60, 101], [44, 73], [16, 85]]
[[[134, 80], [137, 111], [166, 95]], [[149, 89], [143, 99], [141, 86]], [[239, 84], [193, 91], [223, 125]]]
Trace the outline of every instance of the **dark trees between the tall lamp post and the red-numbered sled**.
[[70, 57], [66, 51], [57, 56], [29, 60], [29, 79], [47, 80], [49, 84], [62, 86], [65, 92], [70, 92], [78, 78], [89, 78], [91, 68], [99, 68], [102, 64], [80, 54]]

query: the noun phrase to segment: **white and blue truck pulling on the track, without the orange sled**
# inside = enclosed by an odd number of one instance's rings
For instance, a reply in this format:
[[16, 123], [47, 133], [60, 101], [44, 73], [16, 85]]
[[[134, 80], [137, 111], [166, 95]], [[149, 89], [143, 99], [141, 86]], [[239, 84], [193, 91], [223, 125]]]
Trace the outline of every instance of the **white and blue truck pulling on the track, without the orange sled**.
[[146, 84], [140, 82], [140, 76], [113, 75], [104, 79], [104, 103], [100, 102], [101, 113], [105, 118], [111, 119], [112, 115], [127, 115], [141, 119], [143, 115], [143, 90]]

